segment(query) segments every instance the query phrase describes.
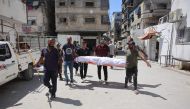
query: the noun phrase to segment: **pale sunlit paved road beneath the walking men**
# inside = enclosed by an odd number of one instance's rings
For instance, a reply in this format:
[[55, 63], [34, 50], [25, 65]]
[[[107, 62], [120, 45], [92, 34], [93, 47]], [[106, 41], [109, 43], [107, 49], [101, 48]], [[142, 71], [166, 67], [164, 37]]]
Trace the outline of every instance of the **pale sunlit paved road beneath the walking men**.
[[48, 91], [38, 80], [14, 80], [0, 87], [0, 109], [189, 109], [190, 73], [179, 73], [152, 63], [139, 62], [139, 95], [124, 88], [125, 70], [109, 69], [109, 85], [98, 82], [90, 65], [86, 83], [75, 76], [74, 86], [58, 81], [57, 98], [48, 102]]

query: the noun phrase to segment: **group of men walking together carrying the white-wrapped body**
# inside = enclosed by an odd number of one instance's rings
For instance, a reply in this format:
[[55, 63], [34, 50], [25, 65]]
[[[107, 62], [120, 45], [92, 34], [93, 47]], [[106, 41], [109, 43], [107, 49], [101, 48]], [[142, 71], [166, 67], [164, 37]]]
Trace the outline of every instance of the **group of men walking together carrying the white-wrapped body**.
[[[87, 42], [83, 41], [82, 46], [78, 46], [77, 44], [72, 43], [72, 38], [67, 38], [67, 43], [61, 45], [58, 43], [55, 47], [55, 40], [48, 40], [47, 48], [44, 48], [41, 51], [41, 57], [37, 62], [36, 66], [40, 66], [40, 64], [44, 65], [44, 85], [49, 88], [49, 93], [51, 94], [51, 98], [56, 97], [57, 90], [57, 77], [59, 76], [60, 80], [63, 80], [62, 77], [62, 67], [64, 71], [64, 77], [66, 81], [66, 85], [73, 84], [73, 68], [76, 69], [76, 73], [78, 69], [80, 69], [80, 77], [83, 80], [86, 78], [88, 63], [76, 63], [74, 59], [78, 56], [90, 56], [90, 50], [87, 47]], [[134, 90], [137, 90], [137, 57], [141, 57], [148, 66], [150, 64], [146, 61], [144, 56], [139, 55], [138, 49], [136, 49], [134, 41], [128, 42], [129, 49], [126, 55], [126, 61], [128, 65], [126, 66], [126, 81], [125, 86], [127, 87], [128, 81], [133, 76], [134, 80]], [[98, 57], [110, 57], [113, 58], [115, 55], [115, 46], [112, 41], [106, 43], [104, 40], [100, 41], [100, 44], [97, 45], [94, 49], [94, 55]], [[67, 72], [67, 67], [69, 68], [69, 76]], [[101, 78], [101, 69], [104, 71], [104, 81]], [[111, 67], [112, 69], [113, 67]], [[107, 66], [97, 65], [97, 74], [98, 79], [103, 84], [108, 84], [108, 70]], [[50, 84], [51, 80], [51, 84]]]

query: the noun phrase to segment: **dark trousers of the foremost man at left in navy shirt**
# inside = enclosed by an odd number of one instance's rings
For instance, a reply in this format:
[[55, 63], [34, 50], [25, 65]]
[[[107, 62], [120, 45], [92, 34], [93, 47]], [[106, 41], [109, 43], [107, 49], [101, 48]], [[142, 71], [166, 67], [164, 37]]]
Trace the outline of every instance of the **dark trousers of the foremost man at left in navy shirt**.
[[[50, 84], [50, 80], [52, 85]], [[52, 95], [55, 95], [57, 91], [57, 71], [45, 71], [44, 85], [49, 89], [52, 88]]]

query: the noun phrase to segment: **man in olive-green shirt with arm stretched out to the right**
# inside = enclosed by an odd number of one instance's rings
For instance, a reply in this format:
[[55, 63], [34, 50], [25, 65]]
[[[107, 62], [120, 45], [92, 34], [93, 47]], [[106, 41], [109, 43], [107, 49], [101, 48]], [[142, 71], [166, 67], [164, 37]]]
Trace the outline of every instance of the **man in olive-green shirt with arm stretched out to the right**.
[[126, 77], [125, 77], [125, 87], [128, 88], [128, 81], [131, 77], [133, 77], [134, 82], [134, 91], [136, 94], [138, 94], [137, 90], [137, 72], [138, 72], [138, 57], [140, 57], [148, 67], [151, 67], [150, 63], [142, 56], [138, 49], [135, 46], [134, 41], [129, 41], [128, 43], [128, 49], [126, 51]]

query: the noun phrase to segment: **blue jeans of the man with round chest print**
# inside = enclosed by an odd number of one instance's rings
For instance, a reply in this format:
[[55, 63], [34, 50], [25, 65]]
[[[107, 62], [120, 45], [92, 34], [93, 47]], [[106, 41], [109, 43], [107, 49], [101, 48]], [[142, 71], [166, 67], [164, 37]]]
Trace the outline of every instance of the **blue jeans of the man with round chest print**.
[[67, 66], [69, 67], [69, 71], [70, 71], [70, 80], [71, 82], [73, 82], [73, 61], [64, 61], [64, 75], [65, 75], [66, 81], [68, 82], [69, 77], [67, 74]]

